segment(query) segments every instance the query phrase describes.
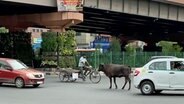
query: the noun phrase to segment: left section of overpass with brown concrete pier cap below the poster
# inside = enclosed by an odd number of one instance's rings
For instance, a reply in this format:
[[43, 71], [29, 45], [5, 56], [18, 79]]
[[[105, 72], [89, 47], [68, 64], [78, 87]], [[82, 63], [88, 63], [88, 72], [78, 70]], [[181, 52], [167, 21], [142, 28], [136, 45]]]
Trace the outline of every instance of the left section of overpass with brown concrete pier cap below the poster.
[[11, 31], [29, 26], [44, 26], [53, 31], [83, 21], [83, 14], [77, 12], [58, 12], [56, 0], [1, 0], [0, 25]]

